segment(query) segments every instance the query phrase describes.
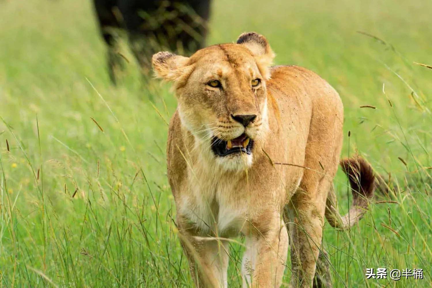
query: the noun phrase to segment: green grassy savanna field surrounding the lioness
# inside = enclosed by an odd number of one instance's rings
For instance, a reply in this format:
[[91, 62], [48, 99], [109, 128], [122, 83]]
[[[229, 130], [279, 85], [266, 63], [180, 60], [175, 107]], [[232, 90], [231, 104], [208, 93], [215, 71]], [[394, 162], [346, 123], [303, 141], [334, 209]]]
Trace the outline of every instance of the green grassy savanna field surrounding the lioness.
[[[426, 0], [213, 2], [207, 44], [256, 31], [275, 64], [321, 75], [344, 103], [341, 156], [362, 155], [388, 184], [350, 231], [326, 224], [335, 287], [432, 286], [432, 69], [415, 63], [432, 65], [430, 11]], [[91, 1], [0, 0], [0, 287], [193, 283], [166, 178], [175, 97], [143, 84], [125, 42], [112, 86], [105, 52]], [[342, 171], [334, 183], [345, 213]], [[229, 287], [241, 286], [241, 242]], [[367, 268], [423, 279], [366, 279]]]

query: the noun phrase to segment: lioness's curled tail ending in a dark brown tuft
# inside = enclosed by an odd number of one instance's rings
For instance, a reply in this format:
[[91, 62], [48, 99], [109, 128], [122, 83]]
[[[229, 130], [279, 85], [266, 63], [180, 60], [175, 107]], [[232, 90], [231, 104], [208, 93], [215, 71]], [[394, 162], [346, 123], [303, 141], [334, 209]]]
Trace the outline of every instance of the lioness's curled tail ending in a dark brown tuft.
[[345, 230], [356, 224], [367, 211], [369, 200], [374, 195], [375, 175], [369, 163], [361, 157], [343, 159], [340, 166], [349, 179], [353, 204], [349, 212], [341, 217], [337, 210], [336, 194], [331, 189], [327, 196], [325, 216], [332, 227]]

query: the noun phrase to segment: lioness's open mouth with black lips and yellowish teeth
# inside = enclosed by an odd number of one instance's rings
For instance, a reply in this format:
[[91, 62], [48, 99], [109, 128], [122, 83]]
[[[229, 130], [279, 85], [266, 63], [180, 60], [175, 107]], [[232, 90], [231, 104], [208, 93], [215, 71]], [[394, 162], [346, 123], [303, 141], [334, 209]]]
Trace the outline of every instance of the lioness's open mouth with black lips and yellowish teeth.
[[252, 153], [254, 140], [246, 136], [245, 133], [237, 138], [225, 141], [217, 137], [212, 139], [212, 150], [218, 156], [227, 156], [232, 153]]

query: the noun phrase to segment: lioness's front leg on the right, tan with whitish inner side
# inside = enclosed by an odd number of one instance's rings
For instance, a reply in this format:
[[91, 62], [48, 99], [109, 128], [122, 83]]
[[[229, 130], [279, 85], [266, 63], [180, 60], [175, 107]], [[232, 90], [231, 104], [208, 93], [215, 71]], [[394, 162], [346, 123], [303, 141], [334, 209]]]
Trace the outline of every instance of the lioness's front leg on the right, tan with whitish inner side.
[[247, 237], [241, 264], [243, 287], [280, 287], [286, 267], [288, 232], [281, 218], [273, 219], [267, 231], [254, 227]]

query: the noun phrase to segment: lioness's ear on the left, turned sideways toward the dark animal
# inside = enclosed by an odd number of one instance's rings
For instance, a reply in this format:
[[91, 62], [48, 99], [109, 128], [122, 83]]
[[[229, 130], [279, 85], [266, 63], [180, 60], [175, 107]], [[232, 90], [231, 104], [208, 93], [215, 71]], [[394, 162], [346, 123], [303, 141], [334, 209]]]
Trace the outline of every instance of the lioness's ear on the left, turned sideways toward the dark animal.
[[176, 81], [183, 74], [182, 68], [187, 65], [189, 58], [170, 52], [159, 52], [152, 57], [152, 66], [156, 77], [167, 81]]

